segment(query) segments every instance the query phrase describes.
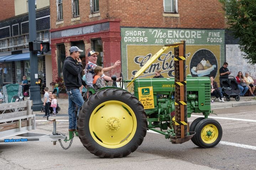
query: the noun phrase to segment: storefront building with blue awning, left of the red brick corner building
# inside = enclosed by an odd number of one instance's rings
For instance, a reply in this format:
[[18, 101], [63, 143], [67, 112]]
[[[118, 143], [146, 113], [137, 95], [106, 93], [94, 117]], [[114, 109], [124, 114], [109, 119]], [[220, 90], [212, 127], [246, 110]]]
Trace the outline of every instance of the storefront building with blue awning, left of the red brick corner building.
[[[6, 1], [4, 0], [3, 3]], [[50, 9], [49, 1], [37, 0], [36, 31], [37, 40], [49, 42]], [[7, 3], [7, 2], [6, 2]], [[30, 81], [31, 66], [28, 50], [28, 6], [27, 0], [11, 0], [7, 6], [1, 7], [1, 13], [12, 16], [0, 21], [0, 89], [3, 85], [20, 83], [23, 75]], [[15, 15], [14, 15], [15, 14]], [[38, 77], [43, 86], [52, 81], [51, 54], [38, 55]]]

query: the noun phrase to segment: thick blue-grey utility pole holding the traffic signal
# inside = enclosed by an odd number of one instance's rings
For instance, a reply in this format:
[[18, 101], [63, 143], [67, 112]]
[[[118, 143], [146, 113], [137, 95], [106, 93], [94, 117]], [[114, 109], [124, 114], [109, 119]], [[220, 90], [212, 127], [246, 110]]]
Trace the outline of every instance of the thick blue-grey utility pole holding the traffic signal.
[[[36, 6], [35, 0], [28, 0], [28, 26], [29, 41], [36, 41]], [[41, 100], [40, 86], [36, 85], [38, 81], [38, 63], [37, 52], [30, 51], [30, 100], [33, 101], [33, 111], [40, 111], [43, 102]]]

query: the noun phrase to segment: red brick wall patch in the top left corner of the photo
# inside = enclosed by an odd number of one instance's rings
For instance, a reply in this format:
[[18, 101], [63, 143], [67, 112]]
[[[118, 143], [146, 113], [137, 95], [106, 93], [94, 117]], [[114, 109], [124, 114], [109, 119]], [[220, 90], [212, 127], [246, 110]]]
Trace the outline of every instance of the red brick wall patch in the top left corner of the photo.
[[15, 16], [14, 0], [1, 0], [0, 21]]

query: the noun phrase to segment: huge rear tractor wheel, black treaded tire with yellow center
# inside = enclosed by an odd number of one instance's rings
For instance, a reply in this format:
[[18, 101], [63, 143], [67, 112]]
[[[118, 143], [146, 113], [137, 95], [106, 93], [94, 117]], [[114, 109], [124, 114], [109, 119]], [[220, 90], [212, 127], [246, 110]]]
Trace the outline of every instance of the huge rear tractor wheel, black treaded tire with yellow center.
[[146, 113], [129, 92], [103, 89], [84, 102], [77, 127], [89, 152], [103, 158], [121, 158], [141, 145], [147, 132]]

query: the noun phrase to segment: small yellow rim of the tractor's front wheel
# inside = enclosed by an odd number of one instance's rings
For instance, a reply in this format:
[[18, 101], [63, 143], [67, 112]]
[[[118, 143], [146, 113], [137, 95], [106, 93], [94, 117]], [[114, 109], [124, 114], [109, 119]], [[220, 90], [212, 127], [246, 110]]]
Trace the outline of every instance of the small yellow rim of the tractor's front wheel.
[[204, 128], [201, 131], [201, 138], [203, 142], [207, 144], [215, 142], [218, 138], [218, 135], [218, 128], [213, 124], [204, 126]]

